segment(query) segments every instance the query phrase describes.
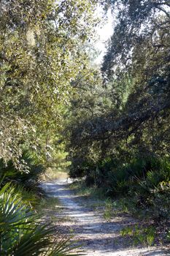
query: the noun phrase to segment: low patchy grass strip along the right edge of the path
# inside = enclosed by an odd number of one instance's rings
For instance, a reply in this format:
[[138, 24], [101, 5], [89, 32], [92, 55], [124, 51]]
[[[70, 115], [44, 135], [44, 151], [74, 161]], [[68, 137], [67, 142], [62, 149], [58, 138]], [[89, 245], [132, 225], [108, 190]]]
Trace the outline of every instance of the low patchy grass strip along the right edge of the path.
[[[103, 214], [105, 220], [110, 221], [113, 217], [117, 217], [119, 214], [129, 214], [138, 219], [137, 222], [140, 225], [133, 225], [131, 227], [125, 227], [120, 235], [128, 236], [131, 240], [132, 245], [145, 245], [152, 246], [154, 243], [162, 244], [170, 239], [170, 233], [160, 233], [159, 228], [155, 229], [153, 221], [150, 217], [150, 211], [144, 208], [137, 208], [136, 201], [133, 197], [115, 197], [112, 200], [109, 197], [104, 196], [102, 189], [97, 187], [86, 187], [84, 181], [75, 181], [70, 184], [70, 188], [74, 190], [77, 195], [86, 197], [89, 199], [88, 206], [92, 207], [95, 211]], [[164, 236], [166, 235], [166, 238]]]

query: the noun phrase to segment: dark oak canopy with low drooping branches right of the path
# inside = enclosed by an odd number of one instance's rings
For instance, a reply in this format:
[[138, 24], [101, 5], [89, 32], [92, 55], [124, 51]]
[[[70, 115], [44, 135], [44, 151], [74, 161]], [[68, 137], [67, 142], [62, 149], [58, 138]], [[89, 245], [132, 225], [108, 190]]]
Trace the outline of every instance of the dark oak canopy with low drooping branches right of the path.
[[70, 145], [80, 166], [95, 154], [99, 161], [170, 150], [169, 1], [109, 1], [109, 7], [117, 23], [101, 67], [107, 107], [79, 118], [72, 129]]

